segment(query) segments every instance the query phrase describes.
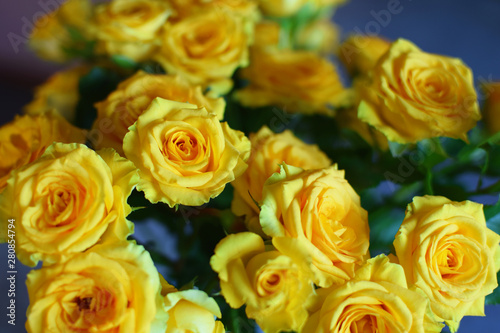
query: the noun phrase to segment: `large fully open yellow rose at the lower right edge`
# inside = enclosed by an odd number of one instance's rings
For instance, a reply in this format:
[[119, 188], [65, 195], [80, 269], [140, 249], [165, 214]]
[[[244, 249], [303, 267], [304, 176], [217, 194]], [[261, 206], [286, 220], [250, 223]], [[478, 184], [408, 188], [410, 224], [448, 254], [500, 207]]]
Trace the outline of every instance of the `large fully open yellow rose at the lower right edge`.
[[408, 284], [455, 330], [463, 316], [484, 315], [484, 297], [497, 286], [499, 241], [482, 205], [424, 196], [408, 205], [394, 247]]

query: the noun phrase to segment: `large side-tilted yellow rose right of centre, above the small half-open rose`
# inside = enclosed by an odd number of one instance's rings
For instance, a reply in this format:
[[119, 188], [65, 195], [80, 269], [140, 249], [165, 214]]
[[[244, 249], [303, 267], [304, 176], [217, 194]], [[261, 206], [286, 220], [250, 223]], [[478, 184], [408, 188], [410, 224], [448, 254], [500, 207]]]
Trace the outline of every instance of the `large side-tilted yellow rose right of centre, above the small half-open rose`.
[[369, 256], [368, 214], [337, 166], [303, 170], [286, 164], [264, 185], [260, 223], [271, 237], [305, 240], [315, 283], [343, 283]]

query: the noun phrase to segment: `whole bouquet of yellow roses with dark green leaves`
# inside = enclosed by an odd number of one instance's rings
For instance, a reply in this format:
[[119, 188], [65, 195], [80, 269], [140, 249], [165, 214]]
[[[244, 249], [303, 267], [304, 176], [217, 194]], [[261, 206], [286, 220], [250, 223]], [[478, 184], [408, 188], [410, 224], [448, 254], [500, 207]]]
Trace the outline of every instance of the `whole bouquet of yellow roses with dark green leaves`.
[[342, 2], [39, 18], [30, 47], [79, 62], [0, 128], [28, 332], [440, 332], [500, 303], [499, 84], [480, 106], [458, 58], [340, 43]]

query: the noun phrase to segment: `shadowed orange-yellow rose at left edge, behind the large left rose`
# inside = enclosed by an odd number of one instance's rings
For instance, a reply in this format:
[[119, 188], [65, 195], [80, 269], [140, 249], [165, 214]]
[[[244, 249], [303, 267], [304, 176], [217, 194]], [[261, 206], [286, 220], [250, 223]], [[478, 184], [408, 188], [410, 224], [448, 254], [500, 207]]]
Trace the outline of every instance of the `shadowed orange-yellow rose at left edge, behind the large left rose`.
[[35, 161], [54, 141], [83, 143], [85, 136], [84, 130], [55, 112], [16, 116], [0, 127], [0, 192], [7, 186], [12, 170]]

